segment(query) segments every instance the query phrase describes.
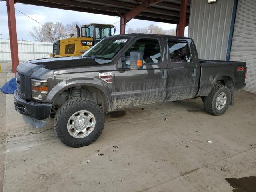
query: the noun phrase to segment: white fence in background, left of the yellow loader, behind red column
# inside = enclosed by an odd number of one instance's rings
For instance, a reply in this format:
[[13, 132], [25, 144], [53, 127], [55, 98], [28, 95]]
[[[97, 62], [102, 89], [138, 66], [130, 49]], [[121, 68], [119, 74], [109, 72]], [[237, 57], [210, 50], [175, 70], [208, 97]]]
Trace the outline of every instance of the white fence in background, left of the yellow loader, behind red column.
[[[52, 53], [52, 43], [18, 41], [19, 62], [46, 58]], [[11, 62], [10, 41], [0, 41], [0, 62]]]

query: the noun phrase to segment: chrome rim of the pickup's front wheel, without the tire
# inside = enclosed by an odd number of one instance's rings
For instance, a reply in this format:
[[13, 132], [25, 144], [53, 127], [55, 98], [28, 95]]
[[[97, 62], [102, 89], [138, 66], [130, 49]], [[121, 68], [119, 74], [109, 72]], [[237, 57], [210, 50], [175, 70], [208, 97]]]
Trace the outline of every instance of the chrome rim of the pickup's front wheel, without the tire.
[[91, 112], [78, 111], [68, 119], [68, 132], [75, 138], [84, 138], [93, 131], [95, 123], [95, 117]]

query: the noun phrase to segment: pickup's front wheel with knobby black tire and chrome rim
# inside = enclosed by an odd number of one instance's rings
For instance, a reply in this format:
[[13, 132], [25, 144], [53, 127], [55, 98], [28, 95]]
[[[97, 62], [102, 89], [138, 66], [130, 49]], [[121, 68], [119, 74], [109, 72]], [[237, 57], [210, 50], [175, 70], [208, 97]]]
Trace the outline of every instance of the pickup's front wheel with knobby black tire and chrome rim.
[[54, 130], [70, 147], [90, 145], [102, 133], [104, 113], [100, 106], [85, 98], [73, 98], [60, 106], [54, 116]]

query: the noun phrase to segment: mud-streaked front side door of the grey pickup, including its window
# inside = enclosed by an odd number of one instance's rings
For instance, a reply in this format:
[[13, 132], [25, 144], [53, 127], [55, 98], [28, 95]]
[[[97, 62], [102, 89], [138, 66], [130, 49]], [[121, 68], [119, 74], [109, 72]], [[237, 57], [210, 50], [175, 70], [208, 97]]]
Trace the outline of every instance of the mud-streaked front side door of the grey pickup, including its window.
[[163, 42], [158, 36], [151, 37], [133, 39], [118, 60], [117, 65], [122, 66], [126, 61], [121, 58], [129, 57], [131, 51], [143, 52], [143, 68], [140, 70], [120, 69], [116, 65], [114, 73], [118, 108], [164, 101], [166, 78], [162, 78]]

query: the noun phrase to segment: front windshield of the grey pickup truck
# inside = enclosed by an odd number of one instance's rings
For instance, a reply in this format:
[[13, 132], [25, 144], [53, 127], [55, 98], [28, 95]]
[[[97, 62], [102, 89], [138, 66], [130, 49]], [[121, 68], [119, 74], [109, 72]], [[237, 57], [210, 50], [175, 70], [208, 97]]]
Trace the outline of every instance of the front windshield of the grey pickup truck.
[[128, 42], [128, 36], [105, 38], [82, 54], [82, 57], [93, 56], [96, 59], [112, 59], [116, 53]]

